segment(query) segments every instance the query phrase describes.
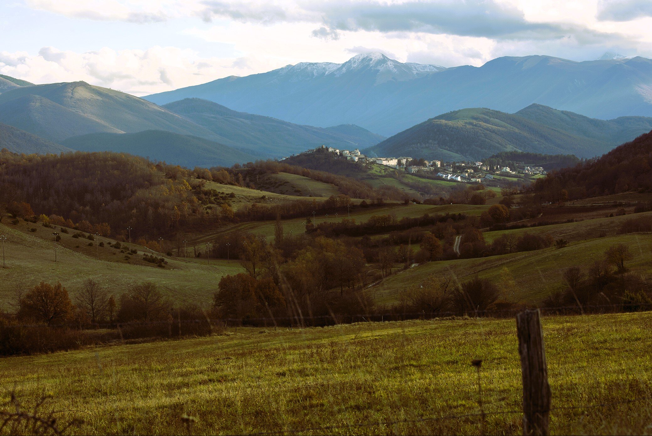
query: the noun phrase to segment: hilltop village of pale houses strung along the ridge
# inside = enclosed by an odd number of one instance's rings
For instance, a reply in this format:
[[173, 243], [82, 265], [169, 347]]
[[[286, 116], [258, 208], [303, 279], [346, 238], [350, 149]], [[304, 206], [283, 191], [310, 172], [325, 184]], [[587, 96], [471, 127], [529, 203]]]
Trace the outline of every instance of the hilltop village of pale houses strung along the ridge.
[[[501, 166], [499, 164], [488, 164], [481, 161], [455, 161], [443, 162], [437, 159], [428, 161], [422, 158], [413, 158], [409, 156], [401, 157], [370, 157], [366, 156], [359, 149], [340, 150], [333, 147], [321, 146], [319, 148], [308, 149], [301, 155], [310, 155], [312, 153], [332, 153], [340, 159], [346, 159], [353, 162], [372, 163], [389, 166], [396, 170], [403, 170], [410, 174], [423, 175], [439, 178], [449, 181], [460, 181], [467, 183], [481, 183], [484, 180], [494, 178], [531, 178], [544, 176], [546, 171], [542, 166], [527, 164], [516, 164], [516, 166]], [[284, 157], [283, 161], [288, 159]]]

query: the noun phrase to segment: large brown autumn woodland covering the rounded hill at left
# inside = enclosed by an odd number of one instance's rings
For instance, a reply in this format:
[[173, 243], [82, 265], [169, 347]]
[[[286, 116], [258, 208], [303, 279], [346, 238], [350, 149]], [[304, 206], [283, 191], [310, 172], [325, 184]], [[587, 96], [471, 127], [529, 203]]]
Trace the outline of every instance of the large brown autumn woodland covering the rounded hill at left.
[[128, 226], [132, 234], [161, 234], [200, 219], [191, 179], [179, 166], [121, 153], [0, 152], [3, 211], [62, 217], [66, 225], [106, 223], [115, 234]]

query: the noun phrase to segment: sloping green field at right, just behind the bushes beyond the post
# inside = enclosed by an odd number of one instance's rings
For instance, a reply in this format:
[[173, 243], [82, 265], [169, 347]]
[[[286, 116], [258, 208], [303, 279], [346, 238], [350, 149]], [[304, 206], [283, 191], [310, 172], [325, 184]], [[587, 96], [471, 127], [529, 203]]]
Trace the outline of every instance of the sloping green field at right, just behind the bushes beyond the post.
[[649, 234], [628, 234], [573, 242], [563, 249], [548, 248], [501, 256], [428, 262], [387, 277], [369, 288], [368, 292], [378, 303], [393, 304], [401, 290], [409, 285], [419, 285], [431, 275], [448, 274], [457, 281], [466, 281], [477, 274], [499, 283], [501, 271], [506, 267], [520, 291], [505, 297], [514, 302], [539, 304], [546, 296], [565, 288], [562, 275], [566, 268], [588, 268], [595, 260], [601, 260], [604, 251], [615, 243], [625, 243], [630, 247], [633, 258], [627, 263], [627, 268], [632, 272], [652, 273], [652, 238]]

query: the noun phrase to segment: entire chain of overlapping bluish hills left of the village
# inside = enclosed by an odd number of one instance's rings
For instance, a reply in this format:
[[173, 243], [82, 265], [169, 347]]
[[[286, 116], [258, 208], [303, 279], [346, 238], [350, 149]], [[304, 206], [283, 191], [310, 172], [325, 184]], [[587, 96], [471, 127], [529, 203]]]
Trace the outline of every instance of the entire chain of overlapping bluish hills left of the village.
[[[229, 155], [222, 145], [240, 150], [231, 154], [233, 156], [255, 160], [289, 155], [321, 144], [366, 148], [385, 139], [357, 126], [321, 128], [295, 125], [271, 117], [235, 112], [200, 99], [173, 102], [164, 108], [133, 95], [85, 82], [33, 85], [8, 76], [0, 79], [4, 81], [0, 85], [7, 85], [0, 93], [1, 123], [51, 142], [63, 143], [75, 136], [83, 136], [85, 140], [101, 138], [100, 144], [108, 151], [119, 151], [129, 143], [136, 146], [132, 152], [149, 155], [152, 159], [169, 160], [170, 157], [168, 154], [158, 155], [156, 148], [149, 146], [152, 141], [166, 138], [167, 144], [179, 144], [180, 136], [163, 132], [193, 136], [192, 144], [200, 144], [198, 138], [207, 140], [201, 141], [203, 145], [196, 157], [206, 156], [205, 147], [212, 144], [217, 148], [209, 159], [211, 162]], [[87, 136], [145, 131], [148, 133], [138, 136], [141, 139], [147, 137], [142, 151], [132, 137]], [[79, 145], [80, 141], [72, 143]], [[80, 149], [95, 149], [95, 145], [88, 144]], [[196, 160], [192, 162], [200, 164]]]

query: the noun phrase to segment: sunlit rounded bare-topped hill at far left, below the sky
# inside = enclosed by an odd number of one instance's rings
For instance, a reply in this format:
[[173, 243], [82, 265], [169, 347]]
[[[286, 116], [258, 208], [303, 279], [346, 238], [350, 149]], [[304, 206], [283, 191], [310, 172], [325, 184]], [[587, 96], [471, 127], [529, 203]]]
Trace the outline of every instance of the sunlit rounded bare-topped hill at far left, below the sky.
[[[27, 101], [12, 105], [12, 101], [21, 97]], [[35, 102], [38, 102], [36, 107]], [[47, 134], [52, 127], [64, 126], [65, 129], [44, 136], [57, 136], [57, 140], [93, 131], [140, 132], [149, 129], [215, 139], [212, 132], [156, 104], [86, 82], [16, 87], [0, 94], [0, 106], [4, 108], [0, 111], [0, 122], [39, 136]], [[61, 106], [67, 110], [61, 110]], [[18, 123], [22, 127], [16, 125]], [[95, 130], [89, 130], [89, 126]]]

